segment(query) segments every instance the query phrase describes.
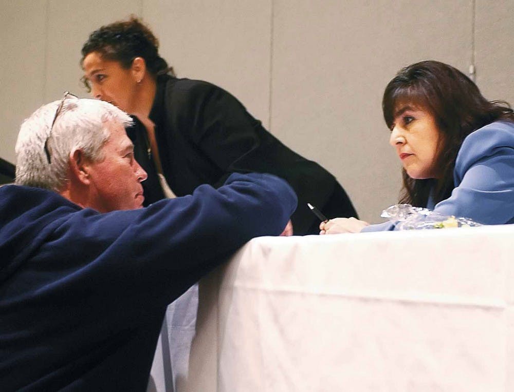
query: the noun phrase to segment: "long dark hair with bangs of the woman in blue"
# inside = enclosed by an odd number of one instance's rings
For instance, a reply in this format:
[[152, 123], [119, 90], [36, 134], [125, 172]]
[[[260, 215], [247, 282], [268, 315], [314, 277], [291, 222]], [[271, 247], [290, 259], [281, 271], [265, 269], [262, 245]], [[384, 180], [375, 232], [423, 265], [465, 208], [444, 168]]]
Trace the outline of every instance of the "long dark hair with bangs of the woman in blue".
[[430, 112], [441, 132], [435, 158], [437, 179], [415, 180], [402, 169], [400, 203], [425, 207], [433, 189], [434, 202], [450, 197], [453, 168], [467, 135], [497, 120], [514, 122], [504, 101], [487, 101], [479, 88], [461, 71], [437, 61], [423, 61], [401, 69], [386, 87], [382, 99], [384, 120], [391, 129], [400, 103], [411, 103]]

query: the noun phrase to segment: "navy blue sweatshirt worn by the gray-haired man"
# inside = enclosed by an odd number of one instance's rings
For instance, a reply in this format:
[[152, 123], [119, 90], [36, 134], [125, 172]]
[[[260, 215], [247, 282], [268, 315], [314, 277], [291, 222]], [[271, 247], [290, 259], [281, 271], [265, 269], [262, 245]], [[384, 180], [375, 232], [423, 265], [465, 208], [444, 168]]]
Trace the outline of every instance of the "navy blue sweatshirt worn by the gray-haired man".
[[296, 203], [266, 174], [104, 214], [0, 188], [0, 390], [144, 391], [166, 306]]

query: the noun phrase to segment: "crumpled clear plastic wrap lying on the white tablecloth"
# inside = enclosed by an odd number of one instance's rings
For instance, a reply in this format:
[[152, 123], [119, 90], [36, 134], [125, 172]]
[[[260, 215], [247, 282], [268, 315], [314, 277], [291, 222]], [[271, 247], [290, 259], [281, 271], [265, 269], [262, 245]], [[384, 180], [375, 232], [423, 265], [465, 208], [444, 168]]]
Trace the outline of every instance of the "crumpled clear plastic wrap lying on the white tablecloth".
[[442, 215], [427, 208], [410, 204], [395, 204], [380, 214], [396, 224], [396, 230], [444, 229], [448, 227], [476, 227], [482, 224], [468, 218]]

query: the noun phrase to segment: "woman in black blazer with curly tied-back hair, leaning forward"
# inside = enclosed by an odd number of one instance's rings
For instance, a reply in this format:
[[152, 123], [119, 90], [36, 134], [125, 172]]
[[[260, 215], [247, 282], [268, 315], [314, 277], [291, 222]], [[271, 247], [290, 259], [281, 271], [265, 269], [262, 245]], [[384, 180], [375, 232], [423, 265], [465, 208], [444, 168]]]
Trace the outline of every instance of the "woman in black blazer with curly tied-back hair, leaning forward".
[[232, 172], [268, 172], [298, 194], [295, 234], [319, 232], [307, 202], [329, 218], [356, 216], [331, 173], [283, 145], [234, 96], [208, 82], [177, 79], [139, 19], [91, 33], [81, 64], [91, 95], [134, 117], [127, 133], [149, 175], [146, 203], [190, 194], [201, 184], [220, 186]]

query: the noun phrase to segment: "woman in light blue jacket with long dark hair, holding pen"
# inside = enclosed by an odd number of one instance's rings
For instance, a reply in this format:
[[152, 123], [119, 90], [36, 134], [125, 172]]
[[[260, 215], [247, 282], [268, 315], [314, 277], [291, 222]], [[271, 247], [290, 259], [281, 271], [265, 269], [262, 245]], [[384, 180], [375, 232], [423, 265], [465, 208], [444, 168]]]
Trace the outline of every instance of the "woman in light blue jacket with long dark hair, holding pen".
[[[514, 223], [514, 113], [506, 102], [489, 102], [462, 72], [424, 61], [389, 82], [382, 109], [403, 166], [400, 203]], [[320, 225], [321, 234], [393, 229], [355, 218]]]

